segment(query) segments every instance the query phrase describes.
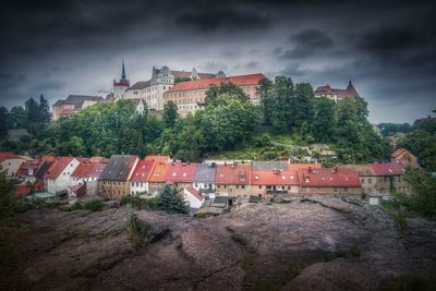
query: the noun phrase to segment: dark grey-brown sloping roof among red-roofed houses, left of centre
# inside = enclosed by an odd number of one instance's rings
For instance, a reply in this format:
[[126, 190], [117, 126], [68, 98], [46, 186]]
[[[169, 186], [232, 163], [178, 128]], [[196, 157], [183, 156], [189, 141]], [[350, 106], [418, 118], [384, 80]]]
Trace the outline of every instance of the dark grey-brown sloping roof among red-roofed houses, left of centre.
[[136, 156], [112, 155], [102, 170], [99, 179], [106, 181], [125, 182], [128, 181], [136, 160]]

